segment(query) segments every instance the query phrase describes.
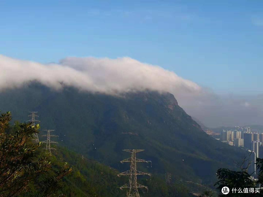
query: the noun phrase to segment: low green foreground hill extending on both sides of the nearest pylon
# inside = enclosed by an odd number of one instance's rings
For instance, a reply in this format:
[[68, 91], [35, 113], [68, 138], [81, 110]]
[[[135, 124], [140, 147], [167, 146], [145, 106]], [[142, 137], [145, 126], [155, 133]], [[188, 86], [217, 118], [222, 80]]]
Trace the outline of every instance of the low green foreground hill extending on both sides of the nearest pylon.
[[[126, 191], [119, 189], [119, 186], [128, 182], [128, 177], [117, 177], [120, 173], [97, 161], [82, 157], [82, 155], [70, 151], [65, 147], [57, 147], [55, 154], [49, 158], [53, 166], [57, 169], [68, 162], [73, 172], [63, 178], [62, 193], [66, 196], [97, 196], [97, 197], [124, 197]], [[175, 182], [171, 185], [165, 184], [165, 180], [158, 176], [151, 179], [144, 178], [140, 183], [149, 186], [149, 192], [140, 190], [140, 196], [192, 196], [190, 190], [181, 182]]]

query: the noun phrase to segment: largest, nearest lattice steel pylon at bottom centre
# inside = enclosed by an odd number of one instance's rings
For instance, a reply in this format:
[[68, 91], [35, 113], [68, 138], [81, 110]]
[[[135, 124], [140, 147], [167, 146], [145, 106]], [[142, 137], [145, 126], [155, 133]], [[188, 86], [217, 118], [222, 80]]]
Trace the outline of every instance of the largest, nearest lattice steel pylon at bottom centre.
[[122, 173], [118, 174], [118, 177], [121, 175], [128, 175], [129, 176], [129, 183], [126, 183], [125, 185], [121, 186], [120, 189], [129, 188], [129, 190], [127, 191], [127, 197], [140, 197], [139, 192], [138, 192], [138, 188], [146, 188], [148, 191], [148, 187], [137, 183], [137, 175], [149, 175], [149, 176], [151, 176], [151, 174], [138, 171], [136, 169], [136, 163], [137, 162], [149, 163], [151, 161], [146, 161], [144, 159], [136, 158], [136, 153], [144, 151], [144, 150], [132, 149], [132, 150], [123, 150], [123, 151], [131, 153], [131, 157], [128, 159], [122, 160], [120, 163], [130, 162], [131, 164], [130, 164], [130, 170], [127, 170], [126, 172], [122, 172]]

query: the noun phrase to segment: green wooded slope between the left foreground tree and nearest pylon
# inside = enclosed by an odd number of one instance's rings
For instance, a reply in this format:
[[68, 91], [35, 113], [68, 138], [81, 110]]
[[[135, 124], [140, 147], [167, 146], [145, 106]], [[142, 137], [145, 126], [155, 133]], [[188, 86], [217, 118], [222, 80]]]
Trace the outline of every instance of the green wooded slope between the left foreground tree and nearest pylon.
[[[83, 158], [65, 147], [57, 147], [56, 154], [52, 156], [52, 163], [55, 167], [60, 166], [65, 160], [73, 168], [68, 179], [84, 191], [88, 196], [121, 196], [118, 188], [124, 183], [123, 178], [118, 178], [117, 170], [100, 164], [94, 160]], [[63, 193], [67, 196], [83, 196], [74, 185], [64, 181]]]

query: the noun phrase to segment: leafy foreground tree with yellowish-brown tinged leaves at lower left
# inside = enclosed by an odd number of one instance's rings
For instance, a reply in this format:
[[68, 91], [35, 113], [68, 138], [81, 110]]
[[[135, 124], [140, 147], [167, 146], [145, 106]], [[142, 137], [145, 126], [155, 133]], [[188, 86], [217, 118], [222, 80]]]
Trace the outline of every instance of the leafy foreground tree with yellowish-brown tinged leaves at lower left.
[[[72, 171], [65, 163], [55, 175], [48, 175], [52, 171], [51, 163], [45, 157], [38, 157], [41, 143], [33, 143], [32, 137], [38, 133], [39, 125], [22, 123], [14, 133], [7, 134], [11, 113], [0, 116], [0, 197], [13, 197], [22, 194], [36, 196], [30, 191], [35, 186], [38, 196], [58, 196], [62, 187], [60, 180]], [[39, 177], [43, 177], [39, 183]]]

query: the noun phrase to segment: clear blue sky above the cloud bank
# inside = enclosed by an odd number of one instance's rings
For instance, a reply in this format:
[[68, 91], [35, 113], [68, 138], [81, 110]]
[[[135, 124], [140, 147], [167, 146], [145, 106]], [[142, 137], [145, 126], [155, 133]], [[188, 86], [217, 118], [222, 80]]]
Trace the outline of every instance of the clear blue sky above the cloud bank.
[[0, 53], [129, 56], [219, 94], [262, 93], [263, 1], [1, 1]]

